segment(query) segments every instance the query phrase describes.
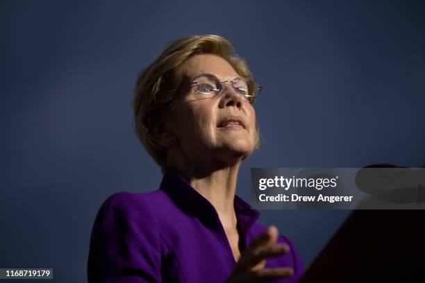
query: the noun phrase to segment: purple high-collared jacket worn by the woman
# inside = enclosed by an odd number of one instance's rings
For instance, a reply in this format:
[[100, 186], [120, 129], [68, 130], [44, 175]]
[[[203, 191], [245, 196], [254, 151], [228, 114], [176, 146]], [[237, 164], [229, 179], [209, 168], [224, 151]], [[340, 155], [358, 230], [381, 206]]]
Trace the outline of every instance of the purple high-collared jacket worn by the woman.
[[[235, 196], [244, 246], [265, 227], [259, 212]], [[290, 266], [297, 282], [303, 266], [293, 244], [287, 255], [267, 259], [266, 267]], [[225, 282], [235, 259], [211, 203], [176, 171], [167, 168], [160, 189], [120, 192], [101, 205], [90, 239], [89, 282]]]

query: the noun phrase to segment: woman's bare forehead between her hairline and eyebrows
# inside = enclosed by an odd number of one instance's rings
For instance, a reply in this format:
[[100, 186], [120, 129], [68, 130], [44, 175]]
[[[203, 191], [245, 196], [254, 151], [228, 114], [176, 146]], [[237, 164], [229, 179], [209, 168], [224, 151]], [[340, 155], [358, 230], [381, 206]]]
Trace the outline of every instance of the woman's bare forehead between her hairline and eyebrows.
[[199, 74], [214, 74], [223, 79], [233, 79], [239, 76], [226, 60], [213, 54], [192, 56], [183, 64], [181, 71], [189, 78]]

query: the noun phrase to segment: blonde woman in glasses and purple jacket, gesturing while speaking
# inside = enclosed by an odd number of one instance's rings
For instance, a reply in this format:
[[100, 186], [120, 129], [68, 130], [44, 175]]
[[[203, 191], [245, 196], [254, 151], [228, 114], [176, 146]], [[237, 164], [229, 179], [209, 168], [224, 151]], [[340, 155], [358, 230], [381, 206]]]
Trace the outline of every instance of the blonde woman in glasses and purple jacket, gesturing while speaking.
[[[92, 230], [90, 282], [296, 282], [301, 259], [235, 196], [258, 147], [260, 87], [223, 37], [169, 44], [135, 88], [135, 128], [163, 169], [160, 188], [118, 193]], [[267, 259], [267, 260], [266, 260]]]

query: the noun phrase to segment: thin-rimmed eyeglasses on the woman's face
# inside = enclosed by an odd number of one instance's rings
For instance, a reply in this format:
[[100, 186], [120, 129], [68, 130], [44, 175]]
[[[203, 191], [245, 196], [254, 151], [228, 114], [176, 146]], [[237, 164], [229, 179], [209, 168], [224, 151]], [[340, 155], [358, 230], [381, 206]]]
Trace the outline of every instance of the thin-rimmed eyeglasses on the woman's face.
[[254, 85], [250, 80], [237, 78], [235, 80], [219, 80], [216, 76], [213, 75], [200, 75], [194, 78], [194, 81], [190, 83], [191, 87], [194, 87], [195, 92], [199, 92], [201, 94], [206, 94], [207, 96], [216, 96], [223, 92], [225, 83], [231, 82], [233, 89], [238, 94], [247, 98], [249, 102], [253, 102], [258, 93], [261, 91], [262, 87], [259, 85], [253, 87], [253, 91], [249, 92], [249, 85]]

